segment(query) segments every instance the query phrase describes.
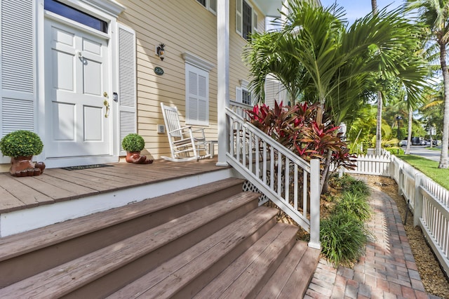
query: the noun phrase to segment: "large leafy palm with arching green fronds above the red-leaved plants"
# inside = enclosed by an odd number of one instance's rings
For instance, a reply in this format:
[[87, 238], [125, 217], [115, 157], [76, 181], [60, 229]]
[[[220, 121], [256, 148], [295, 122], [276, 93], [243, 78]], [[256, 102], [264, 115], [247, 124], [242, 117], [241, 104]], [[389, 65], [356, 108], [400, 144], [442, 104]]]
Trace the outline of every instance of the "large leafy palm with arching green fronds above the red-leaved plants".
[[[370, 13], [348, 27], [335, 5], [290, 0], [287, 7], [283, 30], [254, 34], [243, 53], [257, 95], [263, 95], [265, 76], [275, 74], [293, 98], [302, 92], [304, 100], [317, 102], [333, 124], [340, 124], [354, 118], [363, 94], [373, 91], [373, 74], [381, 70], [385, 77], [400, 78], [408, 98], [417, 99], [427, 69], [410, 49], [418, 44], [420, 27], [403, 18], [401, 10]], [[319, 113], [318, 124], [322, 117]]]

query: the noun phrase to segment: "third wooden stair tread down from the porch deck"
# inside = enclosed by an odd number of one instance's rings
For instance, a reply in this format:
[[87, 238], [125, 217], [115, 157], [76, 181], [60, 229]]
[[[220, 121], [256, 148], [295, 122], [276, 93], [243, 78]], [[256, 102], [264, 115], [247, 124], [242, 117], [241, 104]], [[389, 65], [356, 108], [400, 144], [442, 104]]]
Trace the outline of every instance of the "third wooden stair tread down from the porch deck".
[[[167, 298], [192, 284], [206, 271], [208, 277], [213, 277], [210, 272], [215, 272], [215, 275], [220, 273], [254, 243], [258, 237], [255, 234], [263, 235], [275, 225], [277, 212], [274, 208], [260, 206], [108, 298], [134, 298], [139, 295]], [[241, 227], [246, 229], [241, 230]], [[243, 244], [245, 241], [246, 244]], [[227, 261], [223, 261], [224, 258]], [[214, 269], [210, 270], [212, 267]]]

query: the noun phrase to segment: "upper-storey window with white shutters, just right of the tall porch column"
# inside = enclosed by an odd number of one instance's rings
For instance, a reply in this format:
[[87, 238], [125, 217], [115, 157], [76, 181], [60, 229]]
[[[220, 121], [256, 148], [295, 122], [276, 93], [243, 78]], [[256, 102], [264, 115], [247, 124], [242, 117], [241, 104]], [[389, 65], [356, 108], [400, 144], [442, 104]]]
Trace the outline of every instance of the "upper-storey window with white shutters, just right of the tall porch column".
[[257, 13], [246, 0], [236, 0], [236, 32], [243, 39], [248, 39], [249, 35], [257, 32]]

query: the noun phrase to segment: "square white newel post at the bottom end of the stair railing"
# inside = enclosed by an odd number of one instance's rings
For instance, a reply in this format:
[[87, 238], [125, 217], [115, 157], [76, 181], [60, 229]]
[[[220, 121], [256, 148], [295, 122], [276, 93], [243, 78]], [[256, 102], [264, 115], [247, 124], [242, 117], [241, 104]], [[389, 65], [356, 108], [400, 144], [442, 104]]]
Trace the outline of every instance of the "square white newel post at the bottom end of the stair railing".
[[319, 249], [320, 244], [320, 161], [310, 161], [310, 241], [309, 247]]

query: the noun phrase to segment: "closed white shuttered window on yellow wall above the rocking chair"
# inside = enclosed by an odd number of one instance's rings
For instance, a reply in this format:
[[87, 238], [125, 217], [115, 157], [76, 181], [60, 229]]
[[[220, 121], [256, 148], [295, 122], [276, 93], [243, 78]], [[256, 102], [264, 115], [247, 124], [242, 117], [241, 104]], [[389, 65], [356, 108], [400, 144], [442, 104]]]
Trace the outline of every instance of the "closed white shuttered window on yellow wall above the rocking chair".
[[186, 124], [209, 125], [209, 72], [185, 64]]

